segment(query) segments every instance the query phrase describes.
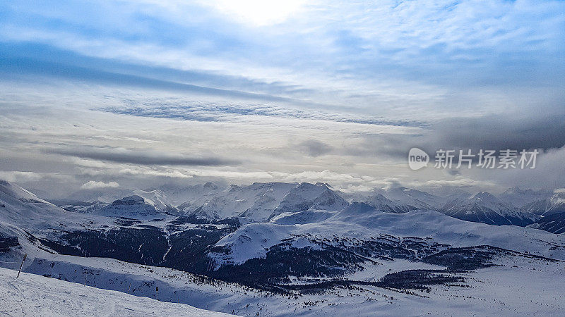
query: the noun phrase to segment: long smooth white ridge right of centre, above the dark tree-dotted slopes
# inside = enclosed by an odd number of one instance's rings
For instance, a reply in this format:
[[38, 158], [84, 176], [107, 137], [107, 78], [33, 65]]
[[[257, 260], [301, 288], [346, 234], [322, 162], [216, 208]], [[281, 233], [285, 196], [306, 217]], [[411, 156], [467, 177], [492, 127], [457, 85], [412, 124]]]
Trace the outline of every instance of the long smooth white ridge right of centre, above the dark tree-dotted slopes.
[[[265, 256], [270, 247], [293, 236], [308, 235], [333, 240], [348, 237], [371, 240], [376, 235], [432, 238], [455, 247], [491, 245], [565, 259], [565, 236], [517, 226], [496, 227], [459, 220], [429, 210], [386, 213], [364, 203], [354, 202], [320, 223], [244, 225], [222, 238], [215, 246], [222, 252], [210, 254], [216, 263], [244, 263]], [[556, 247], [557, 246], [557, 247]], [[561, 247], [560, 247], [561, 246]], [[229, 250], [229, 251], [225, 251]]]

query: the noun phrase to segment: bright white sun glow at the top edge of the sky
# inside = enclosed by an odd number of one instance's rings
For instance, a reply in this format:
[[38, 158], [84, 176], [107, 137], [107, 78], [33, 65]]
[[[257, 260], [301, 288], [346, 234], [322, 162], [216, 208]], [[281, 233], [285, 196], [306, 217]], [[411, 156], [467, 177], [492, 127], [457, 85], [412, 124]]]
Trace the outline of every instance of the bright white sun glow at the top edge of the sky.
[[304, 0], [216, 0], [207, 1], [222, 13], [252, 25], [282, 23], [302, 8]]

